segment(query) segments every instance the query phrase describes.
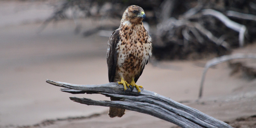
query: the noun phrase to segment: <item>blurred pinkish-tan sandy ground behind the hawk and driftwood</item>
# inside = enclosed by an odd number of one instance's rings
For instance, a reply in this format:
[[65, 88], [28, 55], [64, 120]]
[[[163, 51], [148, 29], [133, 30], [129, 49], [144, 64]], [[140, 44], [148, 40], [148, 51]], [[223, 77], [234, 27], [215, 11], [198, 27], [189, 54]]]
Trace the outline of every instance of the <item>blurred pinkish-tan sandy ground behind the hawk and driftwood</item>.
[[[33, 5], [33, 6], [31, 6]], [[43, 3], [0, 2], [0, 128], [171, 128], [174, 124], [146, 114], [126, 111], [109, 118], [107, 107], [86, 106], [69, 100], [85, 97], [109, 100], [101, 95], [68, 94], [45, 79], [72, 84], [108, 83], [108, 37], [75, 34], [73, 20], [50, 23], [38, 33], [52, 7]], [[23, 13], [22, 13], [23, 11]], [[4, 12], [9, 12], [5, 14]], [[27, 18], [13, 21], [13, 17]], [[42, 14], [35, 17], [34, 13]], [[13, 17], [12, 17], [13, 16]], [[79, 20], [82, 30], [99, 24], [119, 23]], [[233, 53], [256, 53], [256, 44]], [[199, 84], [207, 60], [160, 61], [151, 59], [137, 84], [170, 97], [237, 128], [256, 127], [256, 79], [243, 73], [230, 76], [227, 63], [210, 68], [198, 100]], [[256, 67], [256, 60], [243, 60]]]

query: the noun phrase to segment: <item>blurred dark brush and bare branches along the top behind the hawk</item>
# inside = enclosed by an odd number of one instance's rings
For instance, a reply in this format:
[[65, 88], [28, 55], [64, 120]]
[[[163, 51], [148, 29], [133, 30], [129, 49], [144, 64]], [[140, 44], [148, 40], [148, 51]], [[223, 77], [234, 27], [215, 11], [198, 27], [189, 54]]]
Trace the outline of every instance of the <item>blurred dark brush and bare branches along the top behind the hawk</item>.
[[[132, 4], [146, 13], [157, 60], [221, 56], [256, 39], [254, 0], [66, 0], [44, 25], [62, 19], [121, 19], [126, 7]], [[71, 17], [67, 15], [70, 10]], [[88, 36], [118, 27], [119, 24], [100, 26], [83, 33]], [[75, 32], [81, 32], [80, 28], [77, 24]]]

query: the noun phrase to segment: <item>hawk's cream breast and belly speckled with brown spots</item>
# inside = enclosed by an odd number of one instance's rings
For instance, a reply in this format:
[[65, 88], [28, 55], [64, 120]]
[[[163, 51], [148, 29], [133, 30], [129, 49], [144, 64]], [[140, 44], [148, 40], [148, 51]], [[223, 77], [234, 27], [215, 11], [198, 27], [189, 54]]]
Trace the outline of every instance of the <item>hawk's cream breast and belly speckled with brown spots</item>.
[[[122, 25], [121, 25], [122, 27]], [[117, 66], [115, 81], [123, 77], [128, 83], [138, 75], [152, 52], [151, 38], [142, 24], [124, 25], [117, 44]]]

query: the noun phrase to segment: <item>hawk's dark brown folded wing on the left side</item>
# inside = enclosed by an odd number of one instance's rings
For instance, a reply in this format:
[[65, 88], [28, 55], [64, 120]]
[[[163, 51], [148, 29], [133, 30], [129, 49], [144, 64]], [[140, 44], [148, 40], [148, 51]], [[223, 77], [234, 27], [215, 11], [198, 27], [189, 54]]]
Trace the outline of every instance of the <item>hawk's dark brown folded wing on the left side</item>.
[[107, 64], [108, 64], [108, 81], [114, 82], [116, 74], [117, 49], [116, 45], [120, 40], [119, 28], [116, 29], [108, 40]]

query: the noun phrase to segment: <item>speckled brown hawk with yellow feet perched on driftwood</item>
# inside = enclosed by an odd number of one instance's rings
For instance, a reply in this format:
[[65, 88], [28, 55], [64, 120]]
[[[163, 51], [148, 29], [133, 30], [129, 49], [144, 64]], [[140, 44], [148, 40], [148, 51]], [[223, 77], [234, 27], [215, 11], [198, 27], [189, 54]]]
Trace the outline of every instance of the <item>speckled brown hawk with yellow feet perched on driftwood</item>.
[[[144, 10], [136, 5], [127, 7], [124, 11], [120, 27], [116, 29], [108, 40], [107, 63], [108, 80], [124, 85], [124, 91], [133, 90], [142, 74], [149, 57], [152, 56], [152, 42], [142, 20], [145, 19]], [[117, 100], [117, 99], [111, 99]], [[121, 117], [124, 109], [110, 107], [110, 117]]]

